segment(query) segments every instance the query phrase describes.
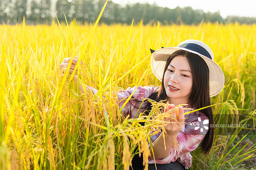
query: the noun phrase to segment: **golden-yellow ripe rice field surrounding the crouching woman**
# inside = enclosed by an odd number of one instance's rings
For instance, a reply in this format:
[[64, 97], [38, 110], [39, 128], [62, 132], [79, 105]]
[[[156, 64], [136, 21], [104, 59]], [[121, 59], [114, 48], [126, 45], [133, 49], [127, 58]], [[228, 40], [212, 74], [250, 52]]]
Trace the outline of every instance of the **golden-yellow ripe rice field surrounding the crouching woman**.
[[[147, 139], [161, 123], [156, 119], [142, 127], [125, 118], [116, 92], [160, 85], [151, 72], [149, 48], [186, 39], [205, 42], [224, 72], [224, 89], [211, 99], [220, 103], [213, 106], [215, 122], [225, 123], [229, 114], [255, 128], [256, 25], [108, 26], [73, 20], [68, 26], [0, 25], [0, 33], [0, 169], [127, 170], [136, 145], [147, 167]], [[80, 81], [98, 89], [97, 95], [79, 93], [73, 75], [60, 75], [62, 60], [74, 56], [81, 60]], [[151, 114], [156, 113], [157, 108]], [[255, 169], [255, 129], [237, 136], [215, 129], [215, 134], [208, 156], [191, 153], [190, 169]]]

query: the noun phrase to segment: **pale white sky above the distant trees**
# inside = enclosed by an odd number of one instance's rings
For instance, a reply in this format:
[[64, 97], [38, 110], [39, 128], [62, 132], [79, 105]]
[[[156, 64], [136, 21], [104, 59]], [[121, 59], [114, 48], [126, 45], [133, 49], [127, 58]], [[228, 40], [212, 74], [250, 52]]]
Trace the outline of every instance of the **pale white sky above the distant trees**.
[[112, 0], [115, 3], [125, 5], [135, 3], [149, 3], [158, 6], [174, 9], [177, 6], [181, 8], [190, 6], [194, 10], [199, 9], [204, 12], [220, 11], [222, 18], [228, 15], [241, 17], [256, 17], [256, 0]]

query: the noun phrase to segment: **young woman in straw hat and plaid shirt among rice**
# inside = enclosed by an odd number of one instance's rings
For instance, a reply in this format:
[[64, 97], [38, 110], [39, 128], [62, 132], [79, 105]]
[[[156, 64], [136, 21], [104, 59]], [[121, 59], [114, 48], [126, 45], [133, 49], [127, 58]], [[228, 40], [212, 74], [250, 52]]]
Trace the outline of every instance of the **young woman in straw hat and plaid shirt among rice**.
[[[187, 115], [183, 113], [188, 111], [186, 108], [198, 109], [210, 106], [210, 97], [219, 94], [224, 86], [224, 74], [218, 64], [213, 61], [212, 50], [202, 41], [186, 40], [177, 47], [161, 48], [151, 52], [153, 52], [151, 69], [156, 78], [162, 81], [161, 86], [129, 87], [117, 93], [118, 100], [122, 100], [118, 104], [122, 107], [123, 99], [135, 91], [132, 96], [135, 100], [130, 100], [122, 110], [125, 116], [129, 115], [131, 118], [137, 118], [135, 115], [141, 105], [141, 97], [150, 98], [156, 102], [169, 101], [170, 104], [164, 108], [164, 112], [179, 104], [188, 104], [184, 108], [179, 107], [178, 122], [183, 126], [179, 123], [168, 123], [164, 127], [166, 150], [163, 132], [151, 137], [152, 148], [148, 158], [149, 169], [155, 169], [155, 163], [157, 169], [186, 169], [191, 166], [190, 152], [196, 147], [199, 146], [203, 154], [210, 151], [214, 129], [209, 126], [213, 124], [211, 107]], [[68, 65], [69, 59], [63, 60], [60, 64], [61, 69]], [[77, 60], [73, 59], [70, 72], [73, 71], [76, 62]], [[62, 72], [64, 71], [65, 69], [62, 69]], [[80, 91], [84, 92], [82, 86]], [[151, 103], [146, 102], [140, 109], [139, 113], [151, 110]], [[176, 114], [172, 113], [172, 117], [176, 117]], [[184, 117], [185, 121], [183, 121]], [[164, 118], [164, 121], [176, 122], [167, 118]], [[180, 149], [174, 150], [175, 139]], [[142, 161], [137, 155], [132, 160], [132, 168], [143, 169]]]

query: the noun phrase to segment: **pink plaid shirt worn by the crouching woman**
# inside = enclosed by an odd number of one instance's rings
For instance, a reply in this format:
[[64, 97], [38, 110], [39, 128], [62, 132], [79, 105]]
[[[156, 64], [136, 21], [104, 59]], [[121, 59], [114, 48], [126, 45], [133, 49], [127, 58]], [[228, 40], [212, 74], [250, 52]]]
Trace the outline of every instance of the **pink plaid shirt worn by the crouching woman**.
[[[159, 87], [154, 86], [138, 86], [138, 88], [135, 90], [136, 86], [131, 88], [127, 88], [126, 90], [117, 92], [118, 100], [119, 100], [119, 108], [121, 108], [125, 102], [125, 99], [127, 99], [132, 92], [135, 91], [133, 94], [133, 97], [136, 100], [142, 101], [142, 98], [148, 98], [153, 92], [156, 92]], [[122, 109], [122, 113], [127, 116], [130, 115], [130, 118], [137, 118], [139, 116], [139, 113], [142, 111], [139, 111], [136, 115], [138, 108], [140, 107], [141, 103], [136, 102], [135, 100], [130, 100]], [[137, 107], [137, 108], [136, 108]], [[184, 108], [189, 108], [190, 106], [186, 106]], [[184, 112], [188, 112], [190, 110], [184, 109]], [[201, 113], [199, 115], [199, 112], [196, 112], [196, 115], [198, 116], [192, 116], [191, 114], [184, 115], [185, 122], [183, 124], [183, 128], [180, 130], [177, 136], [177, 141], [180, 145], [180, 150], [176, 150], [176, 156], [175, 157], [175, 150], [172, 147], [171, 153], [168, 157], [164, 159], [148, 159], [149, 164], [153, 164], [156, 162], [156, 164], [167, 164], [170, 162], [178, 161], [180, 164], [182, 164], [185, 168], [189, 168], [191, 166], [192, 162], [192, 156], [190, 154], [191, 151], [194, 151], [202, 139], [204, 138], [205, 134], [207, 133], [207, 129], [209, 128], [209, 124], [207, 123], [208, 117]], [[136, 115], [136, 117], [134, 117]], [[200, 118], [198, 119], [198, 117]], [[206, 121], [204, 121], [206, 120]], [[208, 127], [208, 128], [207, 128]], [[153, 143], [157, 137], [162, 132], [159, 132], [151, 137], [151, 142]], [[150, 145], [148, 145], [150, 147]]]

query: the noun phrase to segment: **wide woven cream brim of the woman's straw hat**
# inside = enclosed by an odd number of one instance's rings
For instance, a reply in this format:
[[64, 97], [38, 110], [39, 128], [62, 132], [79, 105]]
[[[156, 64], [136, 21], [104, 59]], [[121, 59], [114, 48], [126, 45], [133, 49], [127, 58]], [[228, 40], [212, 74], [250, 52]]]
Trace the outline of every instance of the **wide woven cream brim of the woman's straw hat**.
[[217, 63], [215, 63], [213, 60], [211, 60], [210, 58], [208, 58], [204, 55], [201, 55], [195, 51], [186, 49], [186, 48], [182, 48], [182, 47], [161, 48], [161, 49], [156, 50], [154, 53], [152, 53], [151, 69], [152, 69], [154, 75], [156, 76], [156, 78], [159, 79], [160, 81], [162, 81], [162, 77], [164, 74], [164, 67], [165, 67], [168, 57], [173, 52], [180, 50], [180, 49], [197, 54], [204, 59], [205, 63], [207, 64], [207, 66], [209, 68], [210, 97], [216, 96], [217, 94], [219, 94], [221, 92], [221, 90], [223, 89], [224, 83], [225, 83], [224, 73], [221, 70], [220, 66]]

